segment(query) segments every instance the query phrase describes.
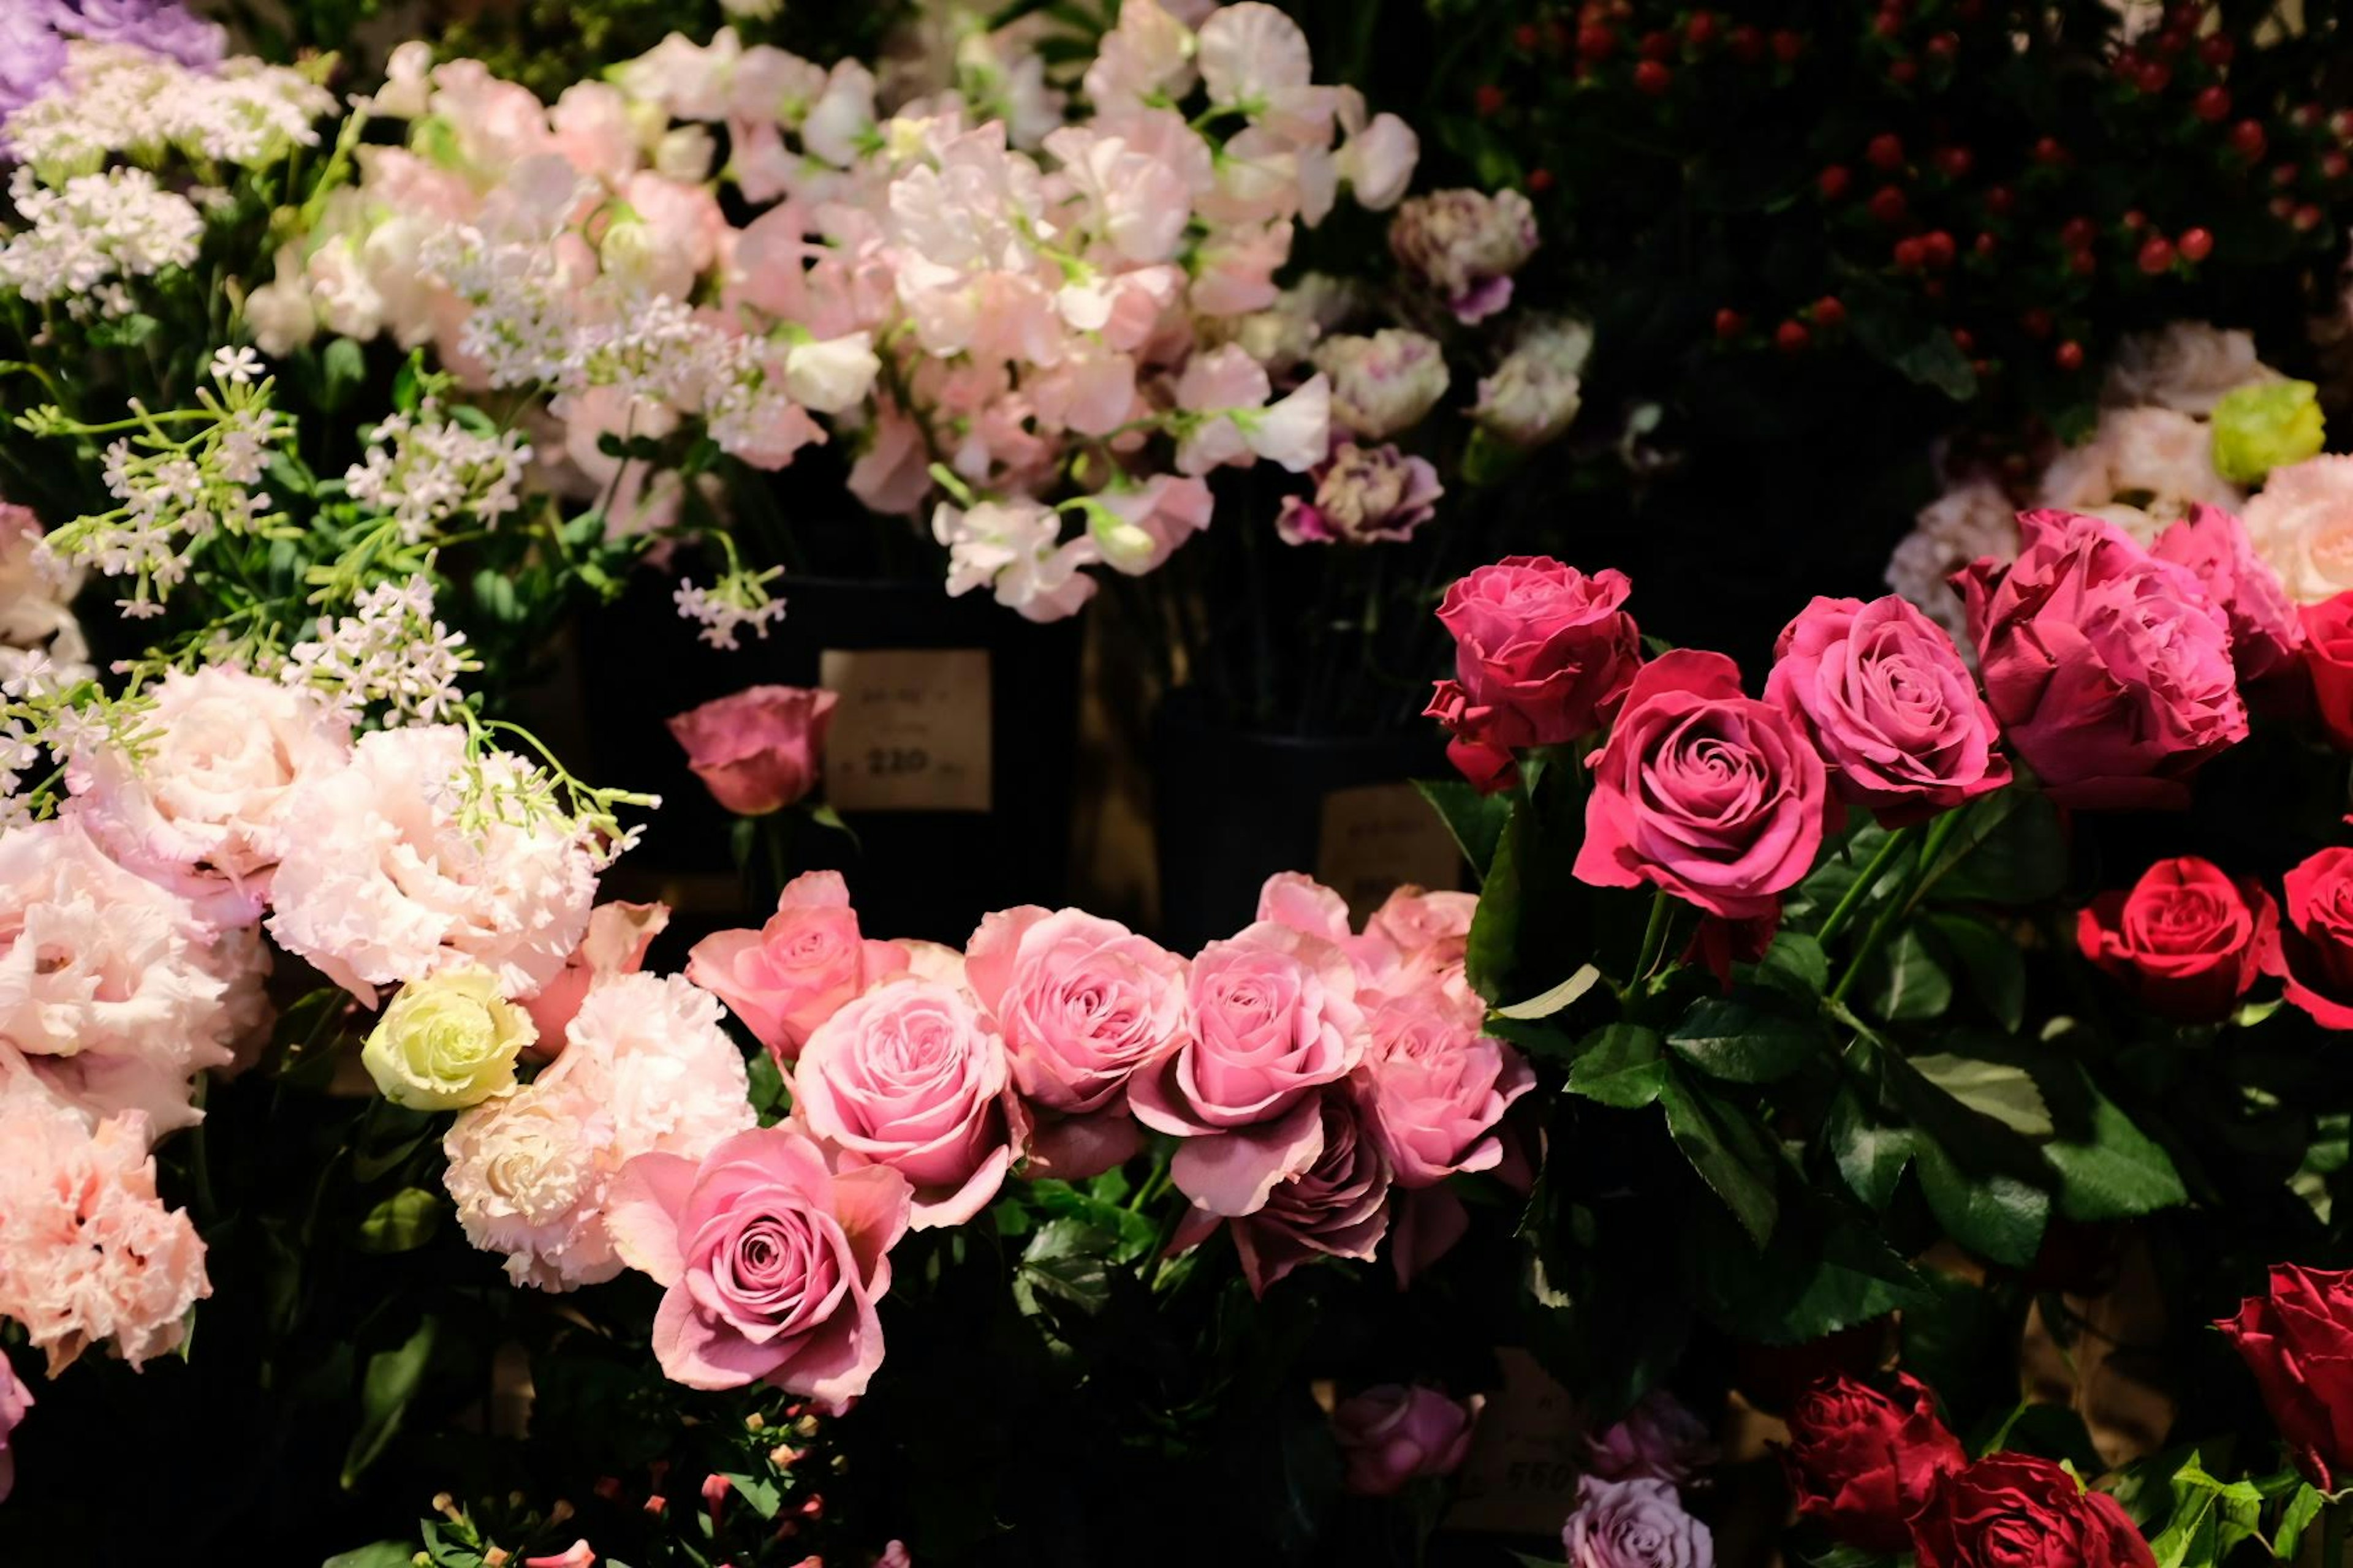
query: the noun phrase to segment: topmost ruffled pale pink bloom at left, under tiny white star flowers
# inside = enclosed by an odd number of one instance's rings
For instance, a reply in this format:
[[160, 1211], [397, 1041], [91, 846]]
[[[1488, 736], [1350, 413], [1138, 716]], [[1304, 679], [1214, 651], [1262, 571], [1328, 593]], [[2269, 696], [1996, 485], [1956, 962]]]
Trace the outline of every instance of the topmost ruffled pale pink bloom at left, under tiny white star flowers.
[[73, 811], [115, 860], [207, 919], [259, 919], [285, 853], [287, 799], [348, 759], [351, 729], [308, 691], [233, 665], [174, 670], [153, 698], [136, 757], [111, 736], [73, 752]]

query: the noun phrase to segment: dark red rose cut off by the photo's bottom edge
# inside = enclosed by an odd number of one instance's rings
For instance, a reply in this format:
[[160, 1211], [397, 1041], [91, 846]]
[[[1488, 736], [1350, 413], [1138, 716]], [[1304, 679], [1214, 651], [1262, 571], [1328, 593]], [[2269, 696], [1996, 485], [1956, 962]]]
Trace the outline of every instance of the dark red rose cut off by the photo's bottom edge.
[[2024, 1453], [1946, 1476], [1913, 1519], [1920, 1568], [2155, 1568], [2122, 1505]]

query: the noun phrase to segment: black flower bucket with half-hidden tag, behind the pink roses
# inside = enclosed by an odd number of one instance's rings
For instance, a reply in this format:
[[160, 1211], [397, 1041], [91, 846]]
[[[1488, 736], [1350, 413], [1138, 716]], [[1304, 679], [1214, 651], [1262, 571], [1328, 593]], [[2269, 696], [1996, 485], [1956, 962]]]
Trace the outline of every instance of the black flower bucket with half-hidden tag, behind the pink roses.
[[1169, 693], [1153, 722], [1160, 940], [1233, 936], [1275, 872], [1339, 889], [1360, 922], [1395, 886], [1461, 886], [1461, 853], [1412, 788], [1447, 776], [1433, 733], [1254, 733]]

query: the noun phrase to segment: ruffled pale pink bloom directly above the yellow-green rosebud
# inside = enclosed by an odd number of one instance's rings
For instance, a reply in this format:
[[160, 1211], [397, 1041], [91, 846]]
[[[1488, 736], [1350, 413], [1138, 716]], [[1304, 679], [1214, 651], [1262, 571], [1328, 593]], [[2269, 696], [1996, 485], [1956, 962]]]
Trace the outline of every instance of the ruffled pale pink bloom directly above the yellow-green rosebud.
[[551, 820], [459, 818], [468, 766], [492, 783], [527, 764], [468, 762], [454, 724], [362, 736], [351, 762], [304, 778], [285, 806], [271, 936], [374, 1006], [379, 985], [480, 964], [527, 997], [588, 929], [595, 865]]

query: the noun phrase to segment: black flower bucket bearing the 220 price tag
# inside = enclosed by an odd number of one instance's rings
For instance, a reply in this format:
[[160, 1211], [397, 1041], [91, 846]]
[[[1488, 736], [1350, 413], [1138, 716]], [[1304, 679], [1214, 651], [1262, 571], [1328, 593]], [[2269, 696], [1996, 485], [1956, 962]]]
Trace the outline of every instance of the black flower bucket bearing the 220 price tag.
[[793, 870], [840, 870], [868, 936], [962, 945], [988, 910], [1059, 905], [1078, 623], [1033, 625], [984, 597], [951, 599], [936, 581], [786, 578], [779, 592], [784, 618], [734, 651], [701, 644], [652, 574], [588, 621], [598, 783], [661, 795], [621, 870], [673, 898], [685, 889], [687, 929], [765, 917], [741, 907], [734, 818], [687, 769], [666, 719], [744, 686], [828, 684], [842, 701], [826, 799], [854, 842], [800, 823]]

